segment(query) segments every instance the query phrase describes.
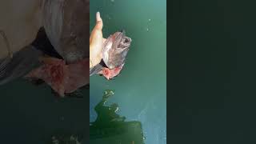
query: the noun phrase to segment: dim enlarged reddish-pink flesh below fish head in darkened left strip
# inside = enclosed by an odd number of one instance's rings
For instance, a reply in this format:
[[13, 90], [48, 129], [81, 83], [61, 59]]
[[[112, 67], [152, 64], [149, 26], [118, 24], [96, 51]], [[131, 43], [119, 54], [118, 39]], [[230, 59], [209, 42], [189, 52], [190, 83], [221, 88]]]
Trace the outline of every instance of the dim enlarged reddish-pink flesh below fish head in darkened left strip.
[[63, 60], [54, 58], [54, 61], [44, 63], [32, 70], [26, 78], [40, 78], [52, 87], [59, 95], [71, 93], [79, 87], [89, 83], [90, 66], [89, 59], [66, 65]]

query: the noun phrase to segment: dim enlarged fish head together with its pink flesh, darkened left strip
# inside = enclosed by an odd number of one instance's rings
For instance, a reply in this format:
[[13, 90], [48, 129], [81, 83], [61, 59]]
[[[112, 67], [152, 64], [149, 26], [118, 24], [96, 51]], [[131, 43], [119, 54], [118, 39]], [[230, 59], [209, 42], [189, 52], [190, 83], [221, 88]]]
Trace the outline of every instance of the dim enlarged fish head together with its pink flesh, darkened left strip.
[[43, 58], [26, 78], [42, 79], [62, 97], [89, 83], [89, 6], [89, 0], [43, 2], [46, 35], [63, 59]]

